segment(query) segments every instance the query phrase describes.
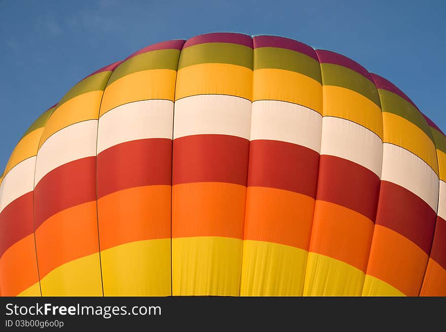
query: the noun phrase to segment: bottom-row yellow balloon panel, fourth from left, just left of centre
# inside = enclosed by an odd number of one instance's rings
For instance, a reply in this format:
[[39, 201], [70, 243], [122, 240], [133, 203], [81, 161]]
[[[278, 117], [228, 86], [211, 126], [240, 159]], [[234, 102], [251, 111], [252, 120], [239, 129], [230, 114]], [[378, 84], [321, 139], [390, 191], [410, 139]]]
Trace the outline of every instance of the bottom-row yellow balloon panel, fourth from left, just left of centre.
[[241, 239], [173, 238], [173, 295], [238, 296], [242, 250]]

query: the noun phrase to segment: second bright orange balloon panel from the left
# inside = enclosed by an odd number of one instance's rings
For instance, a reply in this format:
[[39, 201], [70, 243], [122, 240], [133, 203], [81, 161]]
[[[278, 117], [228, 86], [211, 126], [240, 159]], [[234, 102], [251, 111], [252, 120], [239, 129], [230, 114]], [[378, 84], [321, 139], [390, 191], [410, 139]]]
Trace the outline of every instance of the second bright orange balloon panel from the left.
[[35, 231], [41, 279], [69, 261], [99, 251], [96, 201], [54, 214]]

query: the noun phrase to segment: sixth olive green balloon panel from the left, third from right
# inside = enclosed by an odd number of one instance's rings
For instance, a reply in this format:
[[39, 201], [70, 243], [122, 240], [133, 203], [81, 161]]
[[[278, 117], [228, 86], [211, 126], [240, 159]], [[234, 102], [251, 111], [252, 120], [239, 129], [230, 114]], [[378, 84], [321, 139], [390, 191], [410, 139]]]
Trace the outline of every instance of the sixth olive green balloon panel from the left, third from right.
[[381, 107], [380, 96], [374, 83], [350, 68], [332, 63], [322, 63], [324, 85], [334, 85], [355, 91]]

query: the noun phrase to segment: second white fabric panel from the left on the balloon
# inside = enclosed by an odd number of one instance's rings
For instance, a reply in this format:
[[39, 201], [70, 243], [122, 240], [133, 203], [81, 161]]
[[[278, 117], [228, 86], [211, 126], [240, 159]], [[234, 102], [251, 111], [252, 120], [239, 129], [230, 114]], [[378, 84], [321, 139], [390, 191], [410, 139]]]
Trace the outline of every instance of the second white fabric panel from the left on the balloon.
[[65, 127], [41, 146], [35, 165], [35, 185], [51, 170], [73, 160], [96, 156], [97, 120]]

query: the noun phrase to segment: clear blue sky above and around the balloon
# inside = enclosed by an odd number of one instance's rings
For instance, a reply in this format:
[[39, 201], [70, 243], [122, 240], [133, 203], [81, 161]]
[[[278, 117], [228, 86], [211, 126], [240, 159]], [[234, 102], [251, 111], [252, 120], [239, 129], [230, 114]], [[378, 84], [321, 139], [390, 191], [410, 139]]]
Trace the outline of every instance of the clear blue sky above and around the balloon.
[[344, 54], [444, 131], [445, 14], [442, 0], [0, 0], [0, 174], [28, 126], [89, 73], [147, 45], [215, 31]]

